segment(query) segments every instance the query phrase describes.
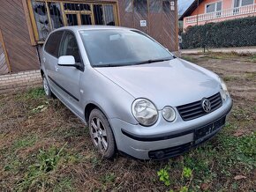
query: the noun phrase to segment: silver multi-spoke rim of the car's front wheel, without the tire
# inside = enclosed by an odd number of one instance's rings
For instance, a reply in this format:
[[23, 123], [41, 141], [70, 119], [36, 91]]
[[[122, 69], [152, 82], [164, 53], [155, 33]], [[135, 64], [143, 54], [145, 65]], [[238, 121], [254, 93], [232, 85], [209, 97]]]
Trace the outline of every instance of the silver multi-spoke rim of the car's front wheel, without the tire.
[[93, 138], [94, 144], [100, 151], [107, 151], [108, 149], [108, 138], [107, 131], [102, 124], [102, 121], [94, 117], [91, 122], [91, 136]]

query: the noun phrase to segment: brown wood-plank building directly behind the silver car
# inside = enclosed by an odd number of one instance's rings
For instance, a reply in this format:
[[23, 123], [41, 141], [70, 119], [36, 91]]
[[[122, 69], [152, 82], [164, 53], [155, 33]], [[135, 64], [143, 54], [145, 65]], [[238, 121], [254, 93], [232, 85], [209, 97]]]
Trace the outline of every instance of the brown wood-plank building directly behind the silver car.
[[1, 0], [0, 74], [39, 69], [38, 50], [61, 26], [137, 28], [177, 50], [177, 0]]

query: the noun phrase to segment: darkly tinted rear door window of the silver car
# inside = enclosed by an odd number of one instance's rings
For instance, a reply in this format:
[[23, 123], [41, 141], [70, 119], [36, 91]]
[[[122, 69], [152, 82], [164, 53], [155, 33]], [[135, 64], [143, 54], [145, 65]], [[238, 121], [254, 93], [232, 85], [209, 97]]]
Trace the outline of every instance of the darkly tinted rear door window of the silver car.
[[50, 34], [44, 48], [44, 50], [47, 53], [55, 57], [58, 57], [58, 48], [59, 48], [59, 44], [62, 39], [63, 33], [64, 33], [63, 31], [57, 31], [55, 33]]

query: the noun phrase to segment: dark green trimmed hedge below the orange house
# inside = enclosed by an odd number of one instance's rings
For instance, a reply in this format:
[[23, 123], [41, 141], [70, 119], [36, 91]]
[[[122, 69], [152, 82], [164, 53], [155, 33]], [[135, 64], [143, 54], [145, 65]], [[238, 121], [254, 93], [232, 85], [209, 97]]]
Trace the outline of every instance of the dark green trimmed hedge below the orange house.
[[192, 26], [182, 34], [183, 48], [256, 46], [256, 17]]

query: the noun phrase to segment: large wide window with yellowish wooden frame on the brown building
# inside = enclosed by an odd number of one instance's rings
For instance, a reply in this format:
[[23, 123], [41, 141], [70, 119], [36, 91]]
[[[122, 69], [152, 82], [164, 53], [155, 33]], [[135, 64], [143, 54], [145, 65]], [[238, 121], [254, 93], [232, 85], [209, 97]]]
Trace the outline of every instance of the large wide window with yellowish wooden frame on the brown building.
[[45, 41], [52, 30], [62, 26], [116, 26], [118, 24], [117, 4], [107, 1], [87, 3], [84, 0], [80, 2], [79, 0], [75, 2], [72, 0], [29, 0], [27, 2], [37, 42]]

